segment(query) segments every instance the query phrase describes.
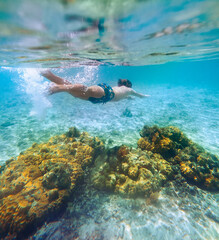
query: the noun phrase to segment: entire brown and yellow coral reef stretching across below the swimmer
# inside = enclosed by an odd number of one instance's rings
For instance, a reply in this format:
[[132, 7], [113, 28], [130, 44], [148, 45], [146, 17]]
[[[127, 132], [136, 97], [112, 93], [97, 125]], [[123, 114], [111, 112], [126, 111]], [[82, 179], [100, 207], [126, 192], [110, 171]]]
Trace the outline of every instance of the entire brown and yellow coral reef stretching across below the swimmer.
[[85, 175], [98, 190], [151, 201], [176, 179], [219, 191], [218, 157], [178, 128], [145, 126], [140, 135], [136, 149], [106, 149], [98, 138], [70, 128], [8, 160], [0, 168], [0, 236], [33, 231], [77, 195]]

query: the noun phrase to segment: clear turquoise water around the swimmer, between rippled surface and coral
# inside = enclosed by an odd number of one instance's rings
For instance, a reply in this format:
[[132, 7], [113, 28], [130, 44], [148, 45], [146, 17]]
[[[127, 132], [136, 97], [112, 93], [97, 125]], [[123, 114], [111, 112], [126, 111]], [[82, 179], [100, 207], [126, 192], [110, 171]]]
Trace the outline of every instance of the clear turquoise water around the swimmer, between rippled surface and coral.
[[[147, 99], [94, 105], [66, 93], [46, 97], [48, 81], [37, 69], [1, 68], [1, 163], [76, 126], [109, 146], [136, 145], [145, 125], [174, 125], [215, 154], [219, 152], [219, 62], [168, 63], [145, 67], [54, 69], [72, 83], [88, 85], [129, 78]], [[124, 115], [131, 111], [132, 117]], [[125, 136], [121, 138], [121, 136]]]

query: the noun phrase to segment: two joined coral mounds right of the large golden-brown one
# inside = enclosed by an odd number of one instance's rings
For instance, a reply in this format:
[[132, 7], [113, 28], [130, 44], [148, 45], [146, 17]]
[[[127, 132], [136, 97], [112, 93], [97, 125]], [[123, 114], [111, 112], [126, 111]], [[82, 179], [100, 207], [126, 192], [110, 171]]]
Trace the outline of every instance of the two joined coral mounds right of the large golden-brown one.
[[104, 161], [96, 160], [92, 173], [96, 188], [150, 199], [177, 176], [202, 189], [219, 191], [218, 157], [178, 128], [144, 126], [140, 135], [138, 149], [122, 146], [108, 151]]

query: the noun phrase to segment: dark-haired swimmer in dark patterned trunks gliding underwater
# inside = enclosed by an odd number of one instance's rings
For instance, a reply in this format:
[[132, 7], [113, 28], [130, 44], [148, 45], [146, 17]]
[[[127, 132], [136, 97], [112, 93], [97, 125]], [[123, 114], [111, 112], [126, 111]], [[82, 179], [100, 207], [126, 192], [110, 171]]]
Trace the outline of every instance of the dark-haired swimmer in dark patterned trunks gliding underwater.
[[115, 87], [110, 87], [105, 83], [87, 87], [83, 84], [72, 84], [48, 70], [41, 72], [41, 75], [55, 83], [49, 89], [50, 94], [67, 92], [75, 98], [88, 100], [92, 103], [116, 102], [122, 99], [130, 99], [131, 96], [140, 98], [150, 96], [134, 91], [132, 89], [132, 83], [128, 79], [119, 79], [118, 86]]

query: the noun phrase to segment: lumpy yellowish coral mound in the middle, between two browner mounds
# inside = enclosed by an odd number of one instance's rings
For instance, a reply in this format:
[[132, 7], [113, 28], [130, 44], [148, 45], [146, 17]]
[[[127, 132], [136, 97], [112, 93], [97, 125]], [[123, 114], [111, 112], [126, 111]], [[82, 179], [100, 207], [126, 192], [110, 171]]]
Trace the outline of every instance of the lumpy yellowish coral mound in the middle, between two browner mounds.
[[[116, 154], [117, 153], [117, 154]], [[150, 196], [173, 177], [171, 164], [160, 154], [122, 146], [105, 161], [96, 160], [92, 182], [105, 189], [131, 197]]]

